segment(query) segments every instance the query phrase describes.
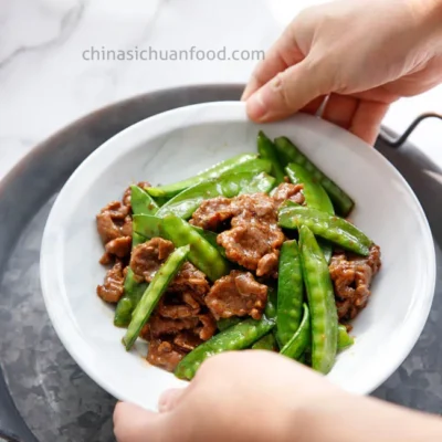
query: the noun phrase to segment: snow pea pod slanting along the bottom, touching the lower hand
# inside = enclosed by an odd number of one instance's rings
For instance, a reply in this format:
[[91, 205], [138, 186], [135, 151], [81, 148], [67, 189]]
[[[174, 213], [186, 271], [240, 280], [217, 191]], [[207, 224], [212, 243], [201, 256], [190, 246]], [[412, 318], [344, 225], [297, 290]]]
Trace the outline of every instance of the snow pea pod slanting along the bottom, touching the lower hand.
[[245, 319], [190, 351], [178, 364], [175, 375], [180, 379], [192, 379], [201, 364], [210, 356], [223, 351], [242, 350], [252, 346], [275, 326], [274, 319], [263, 316], [262, 319]]

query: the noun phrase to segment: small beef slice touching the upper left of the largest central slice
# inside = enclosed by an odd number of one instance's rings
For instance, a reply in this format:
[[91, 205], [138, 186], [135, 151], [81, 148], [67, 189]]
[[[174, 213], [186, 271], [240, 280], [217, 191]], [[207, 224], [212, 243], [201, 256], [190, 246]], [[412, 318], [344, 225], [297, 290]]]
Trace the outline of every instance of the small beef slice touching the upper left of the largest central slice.
[[233, 200], [224, 197], [206, 200], [193, 212], [190, 223], [206, 230], [217, 231], [220, 225], [235, 214]]

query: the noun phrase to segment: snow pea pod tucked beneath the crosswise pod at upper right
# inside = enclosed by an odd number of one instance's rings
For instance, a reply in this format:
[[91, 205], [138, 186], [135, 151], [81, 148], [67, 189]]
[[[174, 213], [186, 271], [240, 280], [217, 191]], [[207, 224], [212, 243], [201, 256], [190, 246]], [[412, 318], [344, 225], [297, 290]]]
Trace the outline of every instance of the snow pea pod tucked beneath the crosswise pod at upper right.
[[[312, 173], [296, 162], [291, 162], [285, 170], [290, 180], [294, 185], [303, 185], [303, 194], [306, 206], [309, 209], [316, 209], [328, 214], [335, 214], [335, 209], [330, 198]], [[333, 253], [332, 244], [323, 240], [319, 242], [319, 245], [324, 252], [325, 260], [330, 262]]]

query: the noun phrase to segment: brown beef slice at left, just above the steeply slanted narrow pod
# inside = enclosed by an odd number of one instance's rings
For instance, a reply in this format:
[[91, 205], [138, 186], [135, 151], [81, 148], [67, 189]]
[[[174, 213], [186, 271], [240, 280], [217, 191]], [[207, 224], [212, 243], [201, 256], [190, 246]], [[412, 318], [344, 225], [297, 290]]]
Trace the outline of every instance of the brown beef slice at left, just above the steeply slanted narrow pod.
[[150, 282], [159, 267], [173, 252], [173, 244], [161, 238], [152, 238], [144, 244], [134, 248], [130, 256], [130, 269], [137, 276]]

